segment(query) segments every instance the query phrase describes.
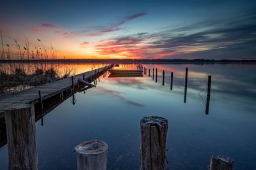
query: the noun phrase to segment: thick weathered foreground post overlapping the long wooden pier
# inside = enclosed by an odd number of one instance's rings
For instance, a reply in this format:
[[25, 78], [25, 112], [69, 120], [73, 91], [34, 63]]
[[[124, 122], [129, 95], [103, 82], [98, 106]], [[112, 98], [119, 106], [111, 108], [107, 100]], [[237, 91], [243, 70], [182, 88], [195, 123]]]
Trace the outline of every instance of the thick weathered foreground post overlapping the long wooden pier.
[[35, 110], [30, 104], [14, 105], [4, 112], [9, 170], [37, 169]]

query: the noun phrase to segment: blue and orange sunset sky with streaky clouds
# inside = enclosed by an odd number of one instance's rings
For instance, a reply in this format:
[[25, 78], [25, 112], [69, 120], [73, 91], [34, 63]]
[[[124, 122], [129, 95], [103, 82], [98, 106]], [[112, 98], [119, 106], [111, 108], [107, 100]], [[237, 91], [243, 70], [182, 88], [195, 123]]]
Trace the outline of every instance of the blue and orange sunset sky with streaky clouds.
[[256, 59], [255, 0], [3, 1], [0, 14], [13, 58], [26, 37], [58, 59]]

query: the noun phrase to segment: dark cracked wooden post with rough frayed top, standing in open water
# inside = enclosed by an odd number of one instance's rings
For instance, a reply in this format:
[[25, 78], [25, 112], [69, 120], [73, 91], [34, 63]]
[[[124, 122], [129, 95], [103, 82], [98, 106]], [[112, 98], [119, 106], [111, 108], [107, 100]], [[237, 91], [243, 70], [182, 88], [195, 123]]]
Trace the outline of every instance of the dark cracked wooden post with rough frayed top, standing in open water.
[[168, 120], [144, 117], [140, 121], [140, 169], [164, 169]]

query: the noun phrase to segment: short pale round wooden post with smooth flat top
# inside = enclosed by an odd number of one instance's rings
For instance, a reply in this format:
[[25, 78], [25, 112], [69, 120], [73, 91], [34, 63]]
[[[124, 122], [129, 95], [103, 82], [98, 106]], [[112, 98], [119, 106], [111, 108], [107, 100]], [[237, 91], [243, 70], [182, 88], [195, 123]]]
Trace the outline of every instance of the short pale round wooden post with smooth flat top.
[[75, 147], [78, 170], [107, 169], [108, 145], [104, 141], [86, 141]]

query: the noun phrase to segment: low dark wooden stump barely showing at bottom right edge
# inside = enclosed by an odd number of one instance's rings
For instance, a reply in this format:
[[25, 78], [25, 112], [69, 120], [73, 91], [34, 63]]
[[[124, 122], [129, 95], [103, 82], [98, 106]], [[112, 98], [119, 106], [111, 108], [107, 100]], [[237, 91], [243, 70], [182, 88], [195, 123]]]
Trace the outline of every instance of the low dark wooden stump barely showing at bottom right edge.
[[225, 155], [221, 155], [216, 158], [212, 156], [211, 163], [207, 169], [208, 170], [232, 170], [234, 162], [235, 161], [233, 159], [230, 159]]

